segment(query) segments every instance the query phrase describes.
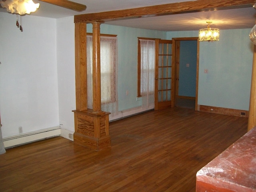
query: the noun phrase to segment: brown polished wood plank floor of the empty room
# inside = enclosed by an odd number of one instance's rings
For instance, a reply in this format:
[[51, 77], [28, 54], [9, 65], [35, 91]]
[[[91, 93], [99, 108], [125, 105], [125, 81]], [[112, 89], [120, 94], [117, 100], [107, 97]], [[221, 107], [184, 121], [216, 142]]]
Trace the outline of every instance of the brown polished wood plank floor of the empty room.
[[56, 137], [0, 155], [1, 192], [194, 192], [196, 172], [246, 133], [247, 118], [188, 108], [110, 122], [95, 152]]

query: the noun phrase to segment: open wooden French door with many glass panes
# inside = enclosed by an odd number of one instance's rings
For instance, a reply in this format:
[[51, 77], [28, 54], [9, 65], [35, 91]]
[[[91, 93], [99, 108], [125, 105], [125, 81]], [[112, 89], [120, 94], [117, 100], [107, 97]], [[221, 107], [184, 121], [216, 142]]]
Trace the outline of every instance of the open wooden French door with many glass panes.
[[172, 40], [156, 40], [155, 110], [174, 107]]

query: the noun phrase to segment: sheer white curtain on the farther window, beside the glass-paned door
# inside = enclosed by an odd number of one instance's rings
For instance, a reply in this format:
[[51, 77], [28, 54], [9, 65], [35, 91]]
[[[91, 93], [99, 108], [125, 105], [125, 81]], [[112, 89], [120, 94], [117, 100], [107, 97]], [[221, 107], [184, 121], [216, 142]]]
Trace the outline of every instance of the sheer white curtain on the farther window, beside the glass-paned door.
[[142, 110], [154, 108], [155, 41], [140, 40]]

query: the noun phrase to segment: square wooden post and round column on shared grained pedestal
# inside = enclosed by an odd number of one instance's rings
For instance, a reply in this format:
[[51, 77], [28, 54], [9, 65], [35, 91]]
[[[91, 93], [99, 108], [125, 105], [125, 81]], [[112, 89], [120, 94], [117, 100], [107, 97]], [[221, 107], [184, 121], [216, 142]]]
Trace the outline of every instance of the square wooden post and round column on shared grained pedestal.
[[99, 151], [111, 146], [109, 112], [101, 110], [100, 24], [93, 25], [92, 109], [87, 108], [86, 23], [75, 22], [76, 110], [74, 143]]

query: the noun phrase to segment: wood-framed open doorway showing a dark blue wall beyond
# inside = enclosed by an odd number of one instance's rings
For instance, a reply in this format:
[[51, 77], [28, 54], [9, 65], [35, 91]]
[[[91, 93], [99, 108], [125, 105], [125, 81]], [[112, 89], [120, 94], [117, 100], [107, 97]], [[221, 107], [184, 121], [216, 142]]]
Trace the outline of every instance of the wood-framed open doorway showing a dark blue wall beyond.
[[172, 38], [174, 70], [174, 106], [198, 110], [198, 37]]

